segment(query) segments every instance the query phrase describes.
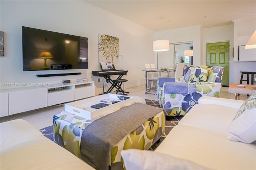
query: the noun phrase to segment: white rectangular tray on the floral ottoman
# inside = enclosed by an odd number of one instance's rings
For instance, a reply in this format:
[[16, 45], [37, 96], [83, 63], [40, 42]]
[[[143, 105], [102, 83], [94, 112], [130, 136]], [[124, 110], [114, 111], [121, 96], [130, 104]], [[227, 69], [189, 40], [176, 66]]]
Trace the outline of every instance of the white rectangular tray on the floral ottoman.
[[[100, 116], [104, 116], [105, 114], [108, 114], [110, 112], [114, 112], [115, 110], [128, 106], [134, 102], [134, 98], [131, 96], [127, 96], [130, 98], [126, 100], [120, 100], [118, 96], [123, 96], [123, 95], [108, 93], [100, 96], [95, 96], [92, 98], [87, 98], [84, 100], [78, 100], [76, 102], [70, 102], [64, 105], [64, 110], [72, 114], [76, 114], [78, 116], [86, 118], [88, 120], [92, 120]], [[114, 104], [112, 104], [112, 102], [108, 102], [106, 104], [110, 104], [109, 106], [106, 106], [100, 109], [91, 108], [91, 106], [94, 104], [102, 103], [100, 102], [100, 100], [104, 100], [104, 99], [110, 99], [110, 100], [120, 101], [120, 102], [117, 102]]]

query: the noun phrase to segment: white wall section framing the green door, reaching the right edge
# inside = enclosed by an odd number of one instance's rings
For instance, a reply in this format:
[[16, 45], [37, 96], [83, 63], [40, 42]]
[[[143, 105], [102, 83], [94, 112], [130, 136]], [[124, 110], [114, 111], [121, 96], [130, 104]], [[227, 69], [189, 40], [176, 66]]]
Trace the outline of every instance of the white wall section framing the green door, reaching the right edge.
[[[234, 24], [219, 26], [214, 28], [204, 29], [204, 44], [203, 44], [203, 58], [204, 64], [206, 64], [206, 43], [210, 42], [230, 42], [230, 83], [240, 82], [240, 71], [256, 71], [256, 52], [255, 49], [244, 50], [243, 53], [250, 53], [250, 56], [241, 56], [240, 51], [240, 61], [238, 62], [238, 46], [245, 45], [254, 30], [256, 29], [256, 22], [245, 22], [240, 23], [238, 20], [234, 21]], [[233, 55], [234, 48], [234, 55]], [[248, 62], [251, 61], [251, 62]], [[254, 62], [253, 62], [254, 61]]]

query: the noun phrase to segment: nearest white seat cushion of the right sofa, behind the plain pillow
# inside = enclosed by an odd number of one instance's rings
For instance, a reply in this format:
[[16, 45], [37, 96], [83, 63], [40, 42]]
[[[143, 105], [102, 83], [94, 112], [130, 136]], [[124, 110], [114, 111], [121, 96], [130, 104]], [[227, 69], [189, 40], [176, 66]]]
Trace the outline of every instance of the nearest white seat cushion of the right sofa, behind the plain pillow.
[[[215, 125], [218, 126], [218, 123]], [[230, 141], [226, 134], [192, 126], [175, 126], [155, 152], [212, 169], [256, 169], [255, 144]]]

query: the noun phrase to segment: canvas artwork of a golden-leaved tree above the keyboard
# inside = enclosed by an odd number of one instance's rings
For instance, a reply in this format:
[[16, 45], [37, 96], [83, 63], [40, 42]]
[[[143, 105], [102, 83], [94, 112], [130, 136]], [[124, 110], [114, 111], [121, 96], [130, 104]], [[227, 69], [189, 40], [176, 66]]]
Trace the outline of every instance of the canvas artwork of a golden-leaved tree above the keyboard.
[[118, 63], [119, 39], [114, 36], [99, 34], [99, 62]]

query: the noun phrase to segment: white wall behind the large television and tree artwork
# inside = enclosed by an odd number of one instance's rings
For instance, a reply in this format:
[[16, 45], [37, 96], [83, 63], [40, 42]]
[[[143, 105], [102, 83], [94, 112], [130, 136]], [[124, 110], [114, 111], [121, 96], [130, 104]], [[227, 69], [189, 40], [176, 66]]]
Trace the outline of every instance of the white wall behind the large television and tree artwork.
[[[102, 92], [102, 80], [91, 75], [100, 70], [98, 34], [119, 38], [119, 54], [128, 70], [124, 87], [145, 84], [145, 62], [154, 62], [152, 42], [154, 31], [134, 24], [82, 1], [0, 1], [0, 30], [4, 31], [4, 57], [0, 58], [1, 83], [59, 83], [62, 80], [88, 77], [96, 83], [96, 93]], [[88, 37], [89, 68], [81, 70], [22, 71], [22, 26]], [[122, 58], [115, 64], [122, 69]], [[82, 72], [78, 76], [37, 78], [36, 74]], [[134, 76], [136, 75], [136, 76]], [[1, 87], [5, 88], [5, 87]]]

